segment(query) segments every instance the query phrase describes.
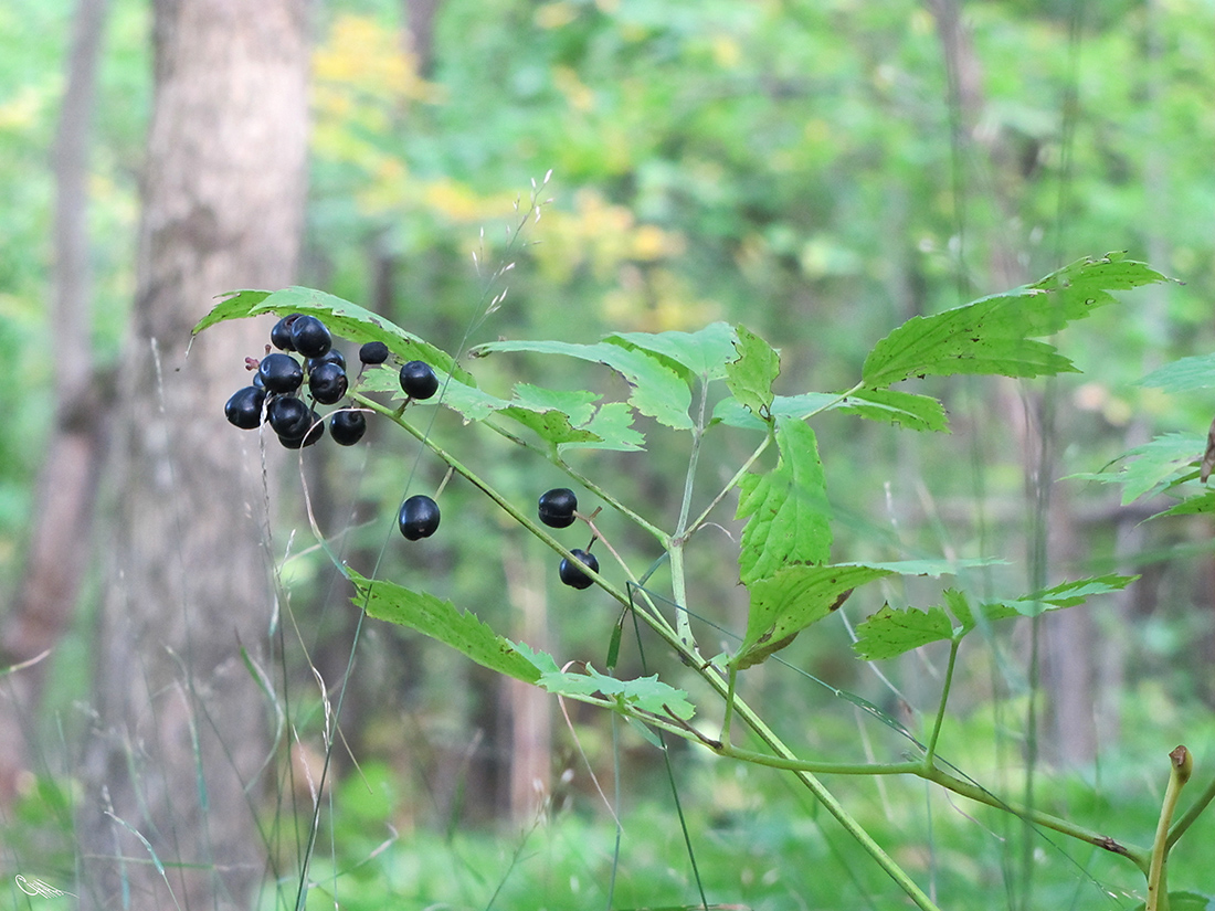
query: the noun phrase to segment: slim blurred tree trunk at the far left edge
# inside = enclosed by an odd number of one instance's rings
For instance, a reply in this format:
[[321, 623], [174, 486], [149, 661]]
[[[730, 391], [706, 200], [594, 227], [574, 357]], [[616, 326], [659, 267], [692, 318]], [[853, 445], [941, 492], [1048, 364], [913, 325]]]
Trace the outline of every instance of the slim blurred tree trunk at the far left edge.
[[[104, 396], [92, 375], [89, 268], [89, 140], [107, 0], [80, 0], [55, 137], [55, 426], [32, 510], [29, 551], [12, 613], [0, 629], [2, 664], [35, 662], [10, 680], [0, 701], [0, 807], [28, 769], [27, 731], [41, 701], [38, 656], [63, 633], [89, 562]], [[34, 735], [33, 730], [28, 734]]]

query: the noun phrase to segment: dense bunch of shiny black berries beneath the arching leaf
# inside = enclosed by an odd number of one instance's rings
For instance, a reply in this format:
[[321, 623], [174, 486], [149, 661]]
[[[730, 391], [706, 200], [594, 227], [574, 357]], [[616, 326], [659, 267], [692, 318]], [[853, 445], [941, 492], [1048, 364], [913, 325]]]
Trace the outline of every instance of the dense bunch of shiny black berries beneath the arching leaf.
[[[262, 417], [278, 441], [288, 449], [311, 446], [324, 435], [326, 421], [316, 413], [317, 404], [337, 404], [346, 395], [346, 358], [333, 346], [333, 336], [315, 316], [292, 313], [279, 319], [270, 330], [270, 344], [278, 351], [260, 361], [247, 358], [256, 368], [253, 384], [228, 398], [224, 414], [228, 423], [243, 429], [261, 426]], [[358, 352], [363, 363], [383, 363], [388, 346], [383, 343], [363, 345]], [[299, 358], [293, 355], [298, 355]], [[379, 360], [375, 360], [379, 358]], [[307, 385], [311, 403], [300, 397]], [[328, 420], [329, 435], [339, 446], [354, 446], [367, 431], [362, 412], [343, 408]]]

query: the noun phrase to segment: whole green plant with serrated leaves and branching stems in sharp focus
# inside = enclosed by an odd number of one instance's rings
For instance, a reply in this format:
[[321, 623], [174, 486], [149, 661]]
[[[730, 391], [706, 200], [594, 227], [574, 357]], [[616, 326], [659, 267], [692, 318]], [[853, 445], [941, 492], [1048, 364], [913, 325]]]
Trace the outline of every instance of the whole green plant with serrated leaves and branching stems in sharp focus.
[[[475, 615], [425, 590], [385, 578], [368, 578], [344, 567], [355, 589], [354, 604], [368, 616], [417, 629], [501, 674], [616, 712], [652, 742], [661, 735], [682, 737], [722, 757], [786, 770], [921, 909], [936, 909], [937, 904], [849, 814], [820, 776], [919, 776], [1039, 828], [1079, 839], [1136, 867], [1147, 881], [1146, 906], [1158, 911], [1169, 907], [1170, 902], [1165, 888], [1170, 848], [1215, 798], [1213, 782], [1174, 821], [1177, 794], [1192, 771], [1192, 757], [1185, 747], [1169, 753], [1171, 777], [1160, 827], [1153, 843], [1147, 845], [998, 797], [944, 763], [938, 752], [955, 660], [959, 647], [972, 633], [1001, 621], [1079, 605], [1089, 596], [1124, 588], [1134, 577], [1081, 578], [1019, 596], [989, 600], [974, 598], [959, 584], [945, 588], [939, 604], [923, 607], [886, 605], [861, 619], [855, 626], [855, 651], [865, 661], [891, 658], [929, 643], [948, 644], [948, 668], [929, 732], [923, 741], [908, 734], [914, 751], [900, 762], [830, 763], [801, 757], [739, 696], [738, 681], [748, 668], [762, 664], [809, 627], [841, 610], [859, 587], [897, 576], [951, 576], [983, 562], [982, 559], [833, 562], [835, 520], [814, 431], [818, 415], [837, 412], [910, 430], [945, 430], [948, 419], [938, 398], [899, 385], [929, 375], [987, 374], [1029, 379], [1075, 372], [1074, 364], [1042, 339], [1114, 302], [1111, 292], [1160, 281], [1165, 281], [1162, 275], [1120, 254], [1079, 260], [1033, 284], [933, 316], [914, 317], [872, 347], [859, 379], [849, 387], [792, 396], [773, 391], [780, 373], [779, 352], [746, 327], [727, 323], [714, 323], [695, 333], [616, 333], [595, 344], [552, 339], [495, 341], [471, 351], [474, 360], [525, 351], [601, 364], [628, 384], [628, 396], [612, 402], [600, 402], [599, 396], [582, 391], [526, 384], [518, 385], [510, 398], [491, 395], [457, 358], [431, 343], [355, 304], [307, 288], [231, 294], [198, 323], [194, 332], [226, 319], [276, 313], [292, 327], [290, 344], [296, 350], [301, 345], [310, 351], [321, 346], [316, 341], [321, 333], [313, 323], [323, 324], [326, 336], [332, 332], [361, 345], [363, 372], [349, 389], [358, 411], [335, 413], [332, 419], [335, 438], [339, 437], [338, 426], [343, 428], [338, 442], [357, 440], [363, 428], [360, 421], [357, 431], [346, 429], [347, 421], [352, 425], [356, 421], [350, 418], [339, 421], [341, 414], [375, 414], [380, 420], [396, 424], [420, 441], [451, 473], [470, 481], [486, 496], [491, 508], [505, 511], [520, 527], [552, 548], [561, 559], [564, 583], [575, 588], [598, 585], [620, 607], [604, 672], [589, 663], [563, 669], [553, 656], [527, 643], [508, 640]], [[303, 316], [293, 318], [293, 315]], [[287, 345], [283, 323], [275, 330], [275, 344], [279, 347]], [[307, 327], [307, 332], [303, 327]], [[287, 353], [270, 355], [266, 361], [271, 358], [292, 360]], [[286, 401], [283, 396], [300, 385], [292, 369], [294, 362], [279, 361], [273, 369], [266, 369], [262, 362], [270, 396], [267, 411], [276, 402]], [[294, 367], [303, 372], [299, 364]], [[290, 381], [286, 379], [288, 375]], [[252, 423], [249, 415], [256, 398], [248, 391], [234, 396], [236, 404], [228, 406], [238, 418], [233, 423], [238, 426]], [[397, 400], [403, 401], [399, 404]], [[645, 562], [650, 568], [634, 566], [601, 537], [594, 514], [577, 511], [572, 490], [555, 488], [543, 493], [537, 510], [536, 500], [531, 504], [513, 502], [495, 486], [488, 473], [457, 458], [429, 432], [429, 421], [412, 419], [414, 408], [435, 406], [457, 412], [464, 424], [480, 426], [485, 432], [502, 435], [525, 447], [537, 459], [565, 471], [608, 509], [635, 524], [652, 539], [661, 555], [659, 562], [669, 566], [669, 593], [659, 593], [649, 584], [652, 567], [657, 565], [652, 555]], [[282, 407], [279, 404], [276, 412]], [[605, 485], [581, 473], [570, 458], [571, 453], [587, 448], [642, 449], [645, 437], [633, 426], [637, 414], [685, 435], [684, 493], [678, 515], [667, 521], [646, 517]], [[318, 425], [318, 421], [311, 424]], [[697, 459], [706, 441], [723, 435], [748, 438], [751, 451], [733, 476], [706, 494], [697, 487]], [[774, 464], [761, 468], [773, 462], [763, 460], [765, 453], [773, 451]], [[1198, 505], [1209, 508], [1211, 494], [1203, 497], [1206, 499]], [[700, 532], [719, 511], [727, 510], [728, 500], [735, 498], [734, 517], [744, 522], [738, 571], [750, 607], [738, 645], [728, 652], [711, 653], [702, 650], [693, 629], [685, 554], [689, 548], [700, 545], [703, 537]], [[565, 528], [578, 520], [592, 534], [592, 544], [587, 548], [571, 549], [550, 532], [550, 528]], [[437, 527], [437, 504], [429, 497], [411, 498], [401, 508], [399, 522], [407, 538], [425, 537]], [[599, 541], [610, 554], [610, 561], [605, 558], [608, 566], [600, 566], [598, 558], [590, 554], [590, 547]], [[694, 705], [685, 690], [656, 675], [637, 679], [614, 675], [621, 630], [628, 616], [646, 624], [679, 663], [701, 678], [708, 694], [705, 698]], [[708, 715], [713, 723], [700, 724], [697, 718], [702, 715]], [[742, 746], [740, 728], [746, 729], [747, 736], [762, 748]], [[1162, 749], [1162, 754], [1164, 752]], [[1182, 894], [1174, 899], [1177, 905], [1188, 900]]]

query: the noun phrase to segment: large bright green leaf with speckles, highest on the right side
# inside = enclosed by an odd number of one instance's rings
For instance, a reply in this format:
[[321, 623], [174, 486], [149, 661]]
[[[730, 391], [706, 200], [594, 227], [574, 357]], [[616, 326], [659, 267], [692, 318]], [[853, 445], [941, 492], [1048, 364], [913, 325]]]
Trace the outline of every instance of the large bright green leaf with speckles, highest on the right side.
[[874, 346], [861, 374], [866, 386], [882, 389], [912, 377], [1075, 372], [1053, 345], [1033, 339], [1114, 302], [1108, 289], [1162, 281], [1166, 279], [1159, 272], [1120, 254], [1078, 260], [1007, 294], [912, 317]]

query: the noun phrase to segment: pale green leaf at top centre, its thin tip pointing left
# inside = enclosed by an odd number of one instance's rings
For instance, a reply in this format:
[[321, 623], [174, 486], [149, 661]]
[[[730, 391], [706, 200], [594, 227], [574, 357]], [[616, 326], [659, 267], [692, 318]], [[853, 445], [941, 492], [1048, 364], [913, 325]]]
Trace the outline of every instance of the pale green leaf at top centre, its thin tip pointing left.
[[691, 430], [688, 415], [691, 390], [671, 367], [644, 351], [600, 341], [577, 345], [567, 341], [492, 341], [473, 350], [476, 357], [501, 351], [530, 351], [539, 355], [565, 355], [611, 367], [632, 386], [629, 402], [642, 414], [676, 430]]

